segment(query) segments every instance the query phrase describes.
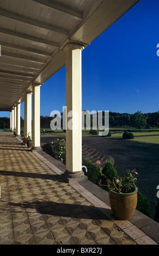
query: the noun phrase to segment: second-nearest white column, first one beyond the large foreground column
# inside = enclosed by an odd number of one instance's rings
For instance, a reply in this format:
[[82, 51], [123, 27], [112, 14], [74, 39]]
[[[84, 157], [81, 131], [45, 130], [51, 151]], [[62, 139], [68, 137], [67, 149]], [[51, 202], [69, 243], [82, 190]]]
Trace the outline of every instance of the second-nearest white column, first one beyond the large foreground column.
[[32, 150], [41, 150], [40, 147], [40, 86], [41, 84], [32, 84], [33, 86], [33, 148]]

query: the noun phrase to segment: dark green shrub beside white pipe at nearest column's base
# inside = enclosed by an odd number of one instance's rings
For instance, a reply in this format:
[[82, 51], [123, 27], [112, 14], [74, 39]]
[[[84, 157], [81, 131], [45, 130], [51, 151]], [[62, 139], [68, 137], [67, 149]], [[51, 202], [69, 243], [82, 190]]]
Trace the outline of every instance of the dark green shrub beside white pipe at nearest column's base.
[[92, 162], [84, 159], [84, 157], [82, 157], [82, 165], [87, 167], [87, 173], [85, 175], [88, 176], [88, 180], [97, 185], [100, 178], [99, 168]]

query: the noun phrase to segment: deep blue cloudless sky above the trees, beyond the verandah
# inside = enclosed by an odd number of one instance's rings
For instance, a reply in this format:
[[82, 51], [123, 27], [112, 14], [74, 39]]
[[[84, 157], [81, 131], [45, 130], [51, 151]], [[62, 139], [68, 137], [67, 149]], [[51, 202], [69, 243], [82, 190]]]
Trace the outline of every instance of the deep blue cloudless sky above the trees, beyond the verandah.
[[[158, 14], [158, 0], [140, 0], [82, 51], [82, 109], [159, 111]], [[65, 67], [41, 86], [40, 114], [50, 116], [63, 106]]]

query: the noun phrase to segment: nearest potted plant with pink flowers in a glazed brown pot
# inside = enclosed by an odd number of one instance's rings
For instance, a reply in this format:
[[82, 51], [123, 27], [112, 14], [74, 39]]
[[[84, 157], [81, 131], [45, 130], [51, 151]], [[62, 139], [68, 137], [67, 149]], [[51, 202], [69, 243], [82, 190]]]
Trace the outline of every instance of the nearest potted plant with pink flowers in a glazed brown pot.
[[[96, 162], [99, 164], [99, 161]], [[100, 173], [102, 176], [102, 169], [100, 167]], [[126, 171], [126, 175], [120, 177], [119, 179], [115, 178], [113, 180], [107, 179], [107, 185], [102, 185], [101, 181], [99, 182], [100, 186], [107, 186], [109, 188], [109, 202], [113, 215], [118, 220], [130, 220], [134, 214], [134, 210], [137, 206], [137, 191], [138, 188], [135, 185], [137, 178], [135, 175], [138, 173], [136, 169]]]

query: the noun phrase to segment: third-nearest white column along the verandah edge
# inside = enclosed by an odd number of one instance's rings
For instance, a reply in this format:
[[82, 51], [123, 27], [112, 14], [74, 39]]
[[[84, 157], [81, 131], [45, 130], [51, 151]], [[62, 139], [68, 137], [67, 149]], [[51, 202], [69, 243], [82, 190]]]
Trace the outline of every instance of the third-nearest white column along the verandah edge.
[[25, 93], [25, 135], [32, 137], [32, 93]]

